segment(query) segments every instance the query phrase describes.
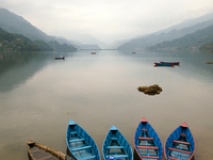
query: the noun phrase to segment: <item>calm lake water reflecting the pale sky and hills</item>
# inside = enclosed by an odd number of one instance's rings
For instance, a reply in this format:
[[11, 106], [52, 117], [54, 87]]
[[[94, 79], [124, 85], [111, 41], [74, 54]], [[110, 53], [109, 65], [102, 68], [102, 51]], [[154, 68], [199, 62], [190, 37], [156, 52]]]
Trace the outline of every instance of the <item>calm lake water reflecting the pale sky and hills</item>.
[[[27, 160], [26, 141], [66, 152], [70, 119], [101, 151], [115, 125], [133, 147], [142, 117], [162, 143], [186, 121], [196, 141], [195, 158], [213, 157], [213, 52], [0, 53], [0, 159]], [[54, 60], [64, 55], [66, 59]], [[180, 61], [154, 67], [153, 62]], [[138, 86], [158, 84], [148, 96]]]

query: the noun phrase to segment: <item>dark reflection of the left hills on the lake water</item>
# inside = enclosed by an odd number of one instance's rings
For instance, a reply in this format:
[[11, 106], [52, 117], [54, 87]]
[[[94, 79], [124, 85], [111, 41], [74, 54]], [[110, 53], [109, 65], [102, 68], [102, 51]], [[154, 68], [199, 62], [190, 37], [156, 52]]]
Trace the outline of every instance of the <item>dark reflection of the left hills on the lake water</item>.
[[71, 53], [48, 52], [1, 52], [0, 53], [0, 92], [8, 92], [30, 79], [58, 55], [71, 56]]

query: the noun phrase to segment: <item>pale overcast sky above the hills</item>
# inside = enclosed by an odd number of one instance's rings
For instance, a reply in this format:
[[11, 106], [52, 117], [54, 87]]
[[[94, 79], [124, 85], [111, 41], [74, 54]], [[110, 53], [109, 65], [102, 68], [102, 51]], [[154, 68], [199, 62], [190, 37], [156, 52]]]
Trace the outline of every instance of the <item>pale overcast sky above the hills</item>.
[[213, 0], [0, 0], [0, 7], [49, 35], [111, 43], [213, 12]]

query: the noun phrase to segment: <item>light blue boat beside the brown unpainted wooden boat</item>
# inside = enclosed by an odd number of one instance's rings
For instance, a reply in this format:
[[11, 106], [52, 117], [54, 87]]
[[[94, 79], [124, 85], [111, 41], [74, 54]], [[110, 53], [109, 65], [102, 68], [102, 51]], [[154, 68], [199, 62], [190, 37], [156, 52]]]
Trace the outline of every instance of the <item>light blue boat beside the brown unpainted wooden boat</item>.
[[66, 133], [68, 151], [76, 160], [100, 160], [98, 146], [92, 137], [77, 123], [70, 120]]

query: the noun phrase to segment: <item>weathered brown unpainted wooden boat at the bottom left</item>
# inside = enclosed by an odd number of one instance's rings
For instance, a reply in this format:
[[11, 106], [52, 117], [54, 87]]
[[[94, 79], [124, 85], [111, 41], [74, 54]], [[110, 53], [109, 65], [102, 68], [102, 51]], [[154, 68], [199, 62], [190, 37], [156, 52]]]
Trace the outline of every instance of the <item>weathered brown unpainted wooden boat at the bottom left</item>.
[[27, 146], [32, 160], [71, 160], [66, 154], [31, 140], [27, 141]]

